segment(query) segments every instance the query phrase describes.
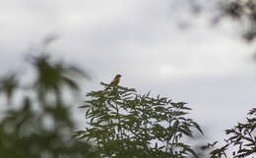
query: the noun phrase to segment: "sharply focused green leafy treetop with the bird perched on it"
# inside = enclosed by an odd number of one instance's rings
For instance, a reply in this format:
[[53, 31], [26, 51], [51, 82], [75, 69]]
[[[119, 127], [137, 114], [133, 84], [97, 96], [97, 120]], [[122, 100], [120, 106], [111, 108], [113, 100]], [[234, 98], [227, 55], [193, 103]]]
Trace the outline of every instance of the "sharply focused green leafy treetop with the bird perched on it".
[[91, 91], [87, 97], [81, 108], [86, 109], [88, 127], [76, 136], [93, 141], [100, 157], [196, 156], [184, 137], [193, 136], [192, 130], [202, 131], [186, 117], [191, 110], [186, 103], [140, 95], [123, 86]]

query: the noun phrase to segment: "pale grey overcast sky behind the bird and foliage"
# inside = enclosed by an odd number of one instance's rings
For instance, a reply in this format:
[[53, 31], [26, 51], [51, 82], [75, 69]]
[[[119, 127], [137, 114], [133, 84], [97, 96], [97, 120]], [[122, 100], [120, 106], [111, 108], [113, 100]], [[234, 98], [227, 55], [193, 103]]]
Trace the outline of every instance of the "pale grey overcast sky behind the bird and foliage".
[[201, 14], [192, 14], [189, 0], [5, 1], [0, 74], [26, 69], [30, 48], [55, 34], [50, 53], [92, 76], [81, 100], [121, 74], [123, 86], [187, 102], [206, 135], [220, 140], [255, 107], [255, 46], [241, 39], [236, 22], [212, 25], [218, 12], [201, 1]]

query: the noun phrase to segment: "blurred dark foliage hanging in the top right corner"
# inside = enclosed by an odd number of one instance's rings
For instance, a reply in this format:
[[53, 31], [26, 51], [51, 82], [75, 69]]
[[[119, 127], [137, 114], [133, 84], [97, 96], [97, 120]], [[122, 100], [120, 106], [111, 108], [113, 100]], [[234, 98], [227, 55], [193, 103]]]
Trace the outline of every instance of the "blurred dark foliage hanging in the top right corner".
[[216, 0], [210, 3], [202, 0], [189, 0], [180, 3], [190, 5], [192, 13], [196, 16], [198, 13], [204, 14], [204, 12], [201, 12], [204, 8], [211, 8], [209, 5], [216, 4], [213, 6], [214, 10], [211, 10], [211, 14], [214, 17], [213, 24], [219, 23], [224, 18], [231, 18], [231, 20], [241, 22], [240, 24], [243, 30], [242, 37], [246, 41], [251, 42], [256, 37], [255, 0]]

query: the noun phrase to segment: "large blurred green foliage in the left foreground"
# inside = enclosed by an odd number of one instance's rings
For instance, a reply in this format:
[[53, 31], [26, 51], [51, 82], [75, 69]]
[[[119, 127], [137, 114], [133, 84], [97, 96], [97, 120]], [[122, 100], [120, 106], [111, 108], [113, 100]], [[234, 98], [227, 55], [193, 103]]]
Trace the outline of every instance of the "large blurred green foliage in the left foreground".
[[24, 75], [19, 74], [0, 79], [1, 106], [7, 108], [0, 119], [0, 157], [95, 156], [90, 144], [72, 138], [74, 122], [63, 99], [63, 87], [79, 90], [77, 82], [70, 77], [85, 77], [82, 71], [50, 62], [46, 55], [31, 57], [30, 63], [36, 79], [22, 81]]

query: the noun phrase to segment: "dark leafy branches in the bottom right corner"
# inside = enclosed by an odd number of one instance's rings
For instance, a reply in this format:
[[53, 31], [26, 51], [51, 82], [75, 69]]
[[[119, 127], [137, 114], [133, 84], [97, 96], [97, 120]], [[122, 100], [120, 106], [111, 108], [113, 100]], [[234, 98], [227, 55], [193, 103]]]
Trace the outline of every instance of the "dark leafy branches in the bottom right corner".
[[252, 109], [246, 118], [246, 123], [238, 123], [234, 128], [225, 130], [229, 135], [224, 139], [223, 147], [211, 152], [212, 158], [227, 157], [226, 151], [234, 148], [232, 155], [234, 158], [244, 158], [256, 154], [256, 108]]

